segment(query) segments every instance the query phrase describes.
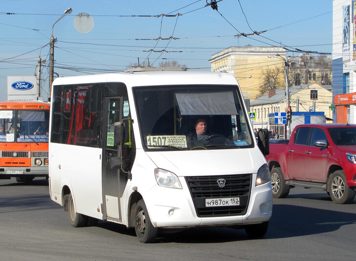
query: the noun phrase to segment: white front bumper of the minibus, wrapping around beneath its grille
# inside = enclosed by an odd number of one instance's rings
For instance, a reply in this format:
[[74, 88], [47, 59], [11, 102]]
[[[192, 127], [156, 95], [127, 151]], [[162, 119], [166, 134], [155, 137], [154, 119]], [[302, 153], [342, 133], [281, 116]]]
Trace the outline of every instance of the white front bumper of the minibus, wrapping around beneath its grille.
[[198, 217], [191, 195], [184, 189], [156, 186], [144, 195], [144, 200], [152, 224], [160, 228], [247, 225], [268, 221], [272, 215], [270, 183], [252, 189], [244, 215]]

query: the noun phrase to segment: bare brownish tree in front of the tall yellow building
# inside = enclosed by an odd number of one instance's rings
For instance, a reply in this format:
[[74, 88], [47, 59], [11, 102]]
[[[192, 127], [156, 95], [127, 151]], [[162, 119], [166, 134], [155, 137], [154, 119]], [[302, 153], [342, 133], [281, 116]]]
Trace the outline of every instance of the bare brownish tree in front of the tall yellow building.
[[269, 90], [286, 87], [284, 74], [284, 67], [271, 66], [265, 69], [262, 72], [260, 95], [266, 94]]

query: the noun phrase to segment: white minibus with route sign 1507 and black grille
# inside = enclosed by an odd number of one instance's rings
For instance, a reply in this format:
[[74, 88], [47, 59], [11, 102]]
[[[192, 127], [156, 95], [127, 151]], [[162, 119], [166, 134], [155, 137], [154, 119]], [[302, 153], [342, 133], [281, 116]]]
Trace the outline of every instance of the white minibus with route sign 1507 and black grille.
[[[50, 115], [50, 196], [74, 227], [108, 220], [135, 227], [141, 242], [169, 228], [267, 232], [269, 170], [232, 75], [57, 78]], [[190, 137], [197, 118], [208, 140]]]

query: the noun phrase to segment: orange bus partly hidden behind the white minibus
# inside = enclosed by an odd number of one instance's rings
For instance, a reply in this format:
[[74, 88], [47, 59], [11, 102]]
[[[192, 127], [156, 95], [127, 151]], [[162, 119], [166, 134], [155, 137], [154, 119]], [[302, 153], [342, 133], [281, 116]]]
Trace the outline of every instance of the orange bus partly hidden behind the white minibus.
[[0, 103], [0, 179], [48, 178], [48, 123], [48, 103]]

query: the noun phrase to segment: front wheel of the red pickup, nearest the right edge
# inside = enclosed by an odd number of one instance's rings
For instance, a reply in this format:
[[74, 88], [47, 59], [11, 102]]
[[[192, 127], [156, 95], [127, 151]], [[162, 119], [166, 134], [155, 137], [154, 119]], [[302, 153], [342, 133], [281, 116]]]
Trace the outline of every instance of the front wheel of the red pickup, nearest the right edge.
[[348, 204], [355, 198], [356, 192], [346, 184], [345, 173], [341, 170], [330, 175], [328, 186], [330, 197], [336, 204]]

